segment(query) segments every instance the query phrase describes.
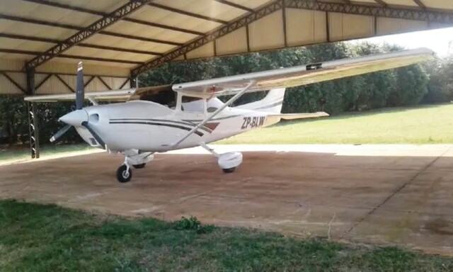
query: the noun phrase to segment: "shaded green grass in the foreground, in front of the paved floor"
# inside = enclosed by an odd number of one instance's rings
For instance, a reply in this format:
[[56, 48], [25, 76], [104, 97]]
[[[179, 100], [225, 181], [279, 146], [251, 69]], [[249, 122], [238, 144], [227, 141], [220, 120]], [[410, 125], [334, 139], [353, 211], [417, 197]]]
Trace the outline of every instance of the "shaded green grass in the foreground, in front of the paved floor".
[[452, 271], [453, 258], [0, 200], [0, 271]]

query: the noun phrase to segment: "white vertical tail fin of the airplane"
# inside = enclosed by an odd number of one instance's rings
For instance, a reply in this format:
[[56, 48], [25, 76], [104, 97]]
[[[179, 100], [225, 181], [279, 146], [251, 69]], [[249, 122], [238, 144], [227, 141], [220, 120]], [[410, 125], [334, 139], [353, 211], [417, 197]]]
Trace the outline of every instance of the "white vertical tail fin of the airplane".
[[285, 88], [272, 89], [265, 98], [260, 101], [243, 104], [235, 108], [243, 108], [253, 111], [264, 111], [266, 113], [280, 113], [282, 111], [283, 98], [285, 97]]

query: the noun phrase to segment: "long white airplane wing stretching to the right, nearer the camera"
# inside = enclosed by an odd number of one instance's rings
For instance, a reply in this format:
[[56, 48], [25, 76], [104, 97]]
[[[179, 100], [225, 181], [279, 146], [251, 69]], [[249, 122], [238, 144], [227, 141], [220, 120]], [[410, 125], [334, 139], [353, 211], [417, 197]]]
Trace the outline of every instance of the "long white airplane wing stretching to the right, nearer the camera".
[[237, 94], [248, 86], [246, 92], [267, 91], [312, 84], [357, 74], [377, 72], [384, 69], [403, 67], [426, 60], [435, 59], [432, 50], [419, 48], [402, 50], [386, 54], [355, 57], [330, 62], [300, 65], [282, 69], [273, 69], [231, 77], [220, 77], [173, 85], [173, 90], [185, 96], [212, 97]]

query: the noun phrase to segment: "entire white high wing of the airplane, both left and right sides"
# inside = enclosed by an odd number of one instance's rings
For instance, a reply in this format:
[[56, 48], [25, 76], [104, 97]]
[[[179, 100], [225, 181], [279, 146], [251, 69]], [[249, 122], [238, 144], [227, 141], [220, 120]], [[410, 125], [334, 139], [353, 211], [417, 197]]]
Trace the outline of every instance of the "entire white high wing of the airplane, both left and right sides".
[[[287, 88], [312, 84], [357, 74], [377, 72], [384, 69], [402, 67], [426, 60], [435, 59], [432, 50], [419, 48], [386, 54], [355, 57], [330, 62], [300, 65], [296, 67], [273, 69], [263, 72], [239, 74], [231, 77], [219, 77], [193, 81], [183, 84], [151, 86], [137, 89], [113, 91], [94, 91], [85, 94], [85, 99], [96, 101], [128, 101], [140, 96], [160, 91], [177, 91], [185, 96], [210, 98], [237, 94], [247, 87], [246, 92], [268, 91], [269, 89]], [[251, 82], [253, 81], [253, 84]], [[250, 85], [250, 86], [248, 86]], [[27, 96], [25, 101], [55, 102], [75, 100], [76, 94], [55, 94]]]

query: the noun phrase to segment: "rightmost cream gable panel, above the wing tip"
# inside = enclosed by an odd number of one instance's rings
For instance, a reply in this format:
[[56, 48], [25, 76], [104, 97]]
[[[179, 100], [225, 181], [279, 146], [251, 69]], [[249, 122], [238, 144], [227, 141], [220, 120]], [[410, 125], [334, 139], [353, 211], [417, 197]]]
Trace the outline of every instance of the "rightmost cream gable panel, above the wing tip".
[[410, 21], [396, 18], [377, 18], [377, 35], [389, 35], [415, 30], [425, 30], [428, 23], [424, 21]]

